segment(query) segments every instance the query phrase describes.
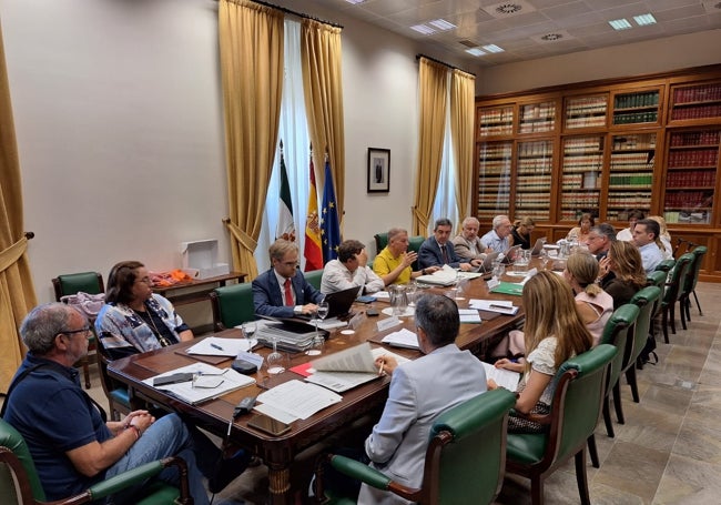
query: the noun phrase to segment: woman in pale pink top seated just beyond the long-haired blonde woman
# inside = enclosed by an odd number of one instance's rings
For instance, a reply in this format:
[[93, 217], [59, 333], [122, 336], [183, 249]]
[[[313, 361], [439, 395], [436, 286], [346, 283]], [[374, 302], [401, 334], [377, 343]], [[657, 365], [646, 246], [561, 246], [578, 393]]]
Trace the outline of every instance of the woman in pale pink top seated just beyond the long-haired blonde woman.
[[613, 297], [596, 284], [598, 272], [598, 261], [585, 251], [571, 254], [563, 270], [563, 277], [576, 297], [578, 314], [593, 337], [593, 345], [598, 344], [613, 312]]

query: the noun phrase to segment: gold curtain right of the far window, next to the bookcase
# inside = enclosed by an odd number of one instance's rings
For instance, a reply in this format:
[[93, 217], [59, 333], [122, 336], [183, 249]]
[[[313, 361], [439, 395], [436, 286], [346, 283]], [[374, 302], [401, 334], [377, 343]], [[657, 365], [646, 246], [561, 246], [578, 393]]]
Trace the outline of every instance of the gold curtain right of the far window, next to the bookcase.
[[450, 137], [456, 159], [456, 205], [463, 220], [470, 212], [470, 192], [474, 189], [474, 120], [476, 78], [463, 70], [450, 74]]

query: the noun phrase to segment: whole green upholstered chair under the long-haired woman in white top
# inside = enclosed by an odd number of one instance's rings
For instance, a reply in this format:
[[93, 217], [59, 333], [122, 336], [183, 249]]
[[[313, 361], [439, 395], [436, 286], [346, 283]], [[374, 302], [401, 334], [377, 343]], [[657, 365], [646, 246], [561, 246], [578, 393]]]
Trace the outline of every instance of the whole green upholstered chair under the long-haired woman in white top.
[[550, 414], [528, 416], [548, 423], [549, 431], [508, 435], [506, 472], [530, 478], [532, 504], [544, 503], [544, 481], [571, 456], [581, 503], [590, 504], [586, 444], [598, 424], [609, 364], [616, 354], [615, 346], [599, 344], [563, 363], [554, 377]]

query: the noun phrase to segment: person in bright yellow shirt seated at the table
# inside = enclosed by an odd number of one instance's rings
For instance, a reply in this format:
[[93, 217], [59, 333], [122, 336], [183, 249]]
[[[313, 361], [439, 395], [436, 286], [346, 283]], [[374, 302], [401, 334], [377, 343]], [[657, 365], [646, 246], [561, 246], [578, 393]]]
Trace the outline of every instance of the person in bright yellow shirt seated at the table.
[[388, 245], [373, 260], [373, 271], [378, 274], [385, 285], [406, 284], [412, 279], [429, 274], [438, 270], [438, 266], [413, 272], [410, 265], [416, 261], [418, 254], [408, 252], [408, 232], [402, 228], [388, 230]]

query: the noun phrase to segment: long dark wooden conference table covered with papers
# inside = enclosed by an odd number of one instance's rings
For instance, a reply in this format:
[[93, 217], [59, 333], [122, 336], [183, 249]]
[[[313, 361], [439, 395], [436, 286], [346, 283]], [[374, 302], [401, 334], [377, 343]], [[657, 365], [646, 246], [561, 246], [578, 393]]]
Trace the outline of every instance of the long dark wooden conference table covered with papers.
[[[518, 277], [505, 277], [505, 280], [510, 282], [520, 281]], [[444, 294], [448, 289], [428, 287], [427, 290], [419, 290], [418, 294], [423, 294], [426, 291]], [[487, 358], [490, 357], [487, 355], [489, 350], [508, 331], [522, 325], [524, 310], [521, 306], [521, 296], [490, 293], [487, 289], [486, 281], [479, 277], [467, 282], [464, 292], [457, 295], [456, 302], [463, 309], [468, 306], [470, 299], [510, 300], [514, 302], [514, 305], [520, 306], [515, 315], [492, 316], [492, 314], [481, 312], [481, 319], [484, 314], [489, 319], [483, 319], [481, 323], [460, 325], [459, 335], [456, 340], [457, 345], [460, 349], [471, 351], [479, 358]], [[365, 315], [365, 311], [370, 306], [379, 312], [377, 317]], [[389, 315], [384, 313], [384, 309], [389, 306], [389, 303], [380, 301], [376, 301], [373, 304], [354, 304], [353, 311], [355, 313], [363, 313], [360, 323], [352, 334], [346, 334], [349, 333], [347, 331], [343, 333], [339, 330], [332, 331], [323, 347], [322, 355], [348, 349], [362, 342], [372, 342], [373, 345], [382, 345], [378, 342], [384, 335], [398, 331], [400, 327], [406, 327], [415, 332], [413, 316], [400, 317], [402, 325], [378, 332], [377, 322], [389, 317]], [[240, 330], [232, 329], [216, 332], [214, 336], [242, 337], [242, 334]], [[301, 375], [287, 368], [306, 363], [316, 357], [305, 355], [304, 353], [290, 354], [286, 371], [282, 374], [268, 375], [265, 370], [261, 368], [254, 374], [256, 380], [255, 384], [197, 405], [185, 403], [142, 382], [154, 375], [193, 363], [195, 358], [184, 353], [184, 350], [196, 342], [197, 339], [195, 342], [183, 342], [158, 351], [115, 360], [109, 364], [108, 372], [112, 377], [128, 385], [131, 402], [138, 406], [141, 405], [140, 402], [161, 405], [170, 411], [177, 412], [187, 422], [225, 440], [233, 408], [243, 397], [256, 396], [266, 388], [286, 381], [301, 380]], [[415, 350], [399, 347], [387, 349], [408, 358], [420, 356], [420, 353]], [[267, 355], [270, 350], [266, 347], [256, 347], [255, 352]], [[223, 368], [229, 367], [231, 363], [232, 358], [223, 358], [222, 361], [216, 360], [214, 364]], [[343, 401], [341, 403], [326, 407], [306, 420], [293, 422], [292, 430], [280, 436], [267, 435], [250, 427], [247, 422], [252, 417], [252, 414], [242, 415], [233, 423], [229, 441], [235, 446], [251, 451], [268, 466], [271, 503], [290, 503], [292, 501], [291, 471], [296, 455], [312, 445], [324, 441], [329, 435], [337, 433], [341, 428], [354, 421], [372, 413], [378, 415], [387, 398], [389, 382], [390, 378], [388, 376], [379, 376], [378, 380], [346, 391], [342, 394]]]

